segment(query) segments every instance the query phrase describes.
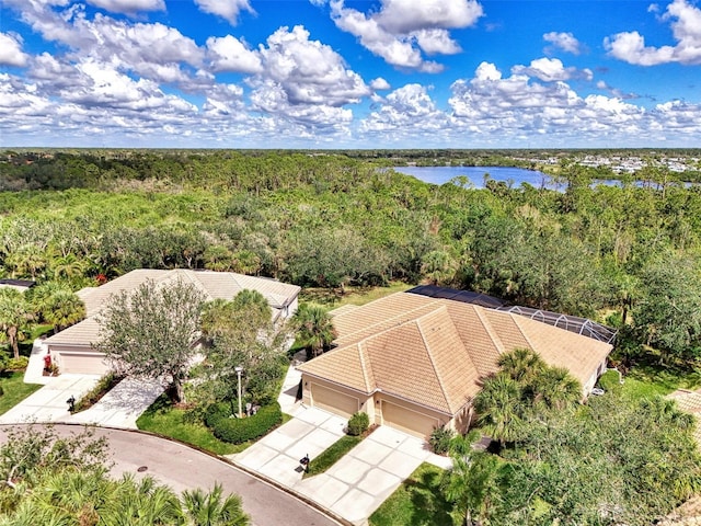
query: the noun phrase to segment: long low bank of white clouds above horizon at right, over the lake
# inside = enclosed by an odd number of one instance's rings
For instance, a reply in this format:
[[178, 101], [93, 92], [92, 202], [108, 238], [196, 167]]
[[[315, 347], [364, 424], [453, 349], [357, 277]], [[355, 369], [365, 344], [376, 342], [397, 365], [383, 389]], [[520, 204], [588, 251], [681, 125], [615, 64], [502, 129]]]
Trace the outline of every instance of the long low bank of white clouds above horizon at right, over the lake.
[[691, 144], [701, 133], [699, 104], [677, 101], [646, 110], [620, 96], [579, 95], [564, 81], [541, 83], [522, 73], [503, 78], [489, 62], [472, 79], [456, 81], [451, 91], [453, 133], [462, 129], [493, 146], [522, 144], [538, 135], [560, 147], [645, 145], [662, 140], [662, 134]]

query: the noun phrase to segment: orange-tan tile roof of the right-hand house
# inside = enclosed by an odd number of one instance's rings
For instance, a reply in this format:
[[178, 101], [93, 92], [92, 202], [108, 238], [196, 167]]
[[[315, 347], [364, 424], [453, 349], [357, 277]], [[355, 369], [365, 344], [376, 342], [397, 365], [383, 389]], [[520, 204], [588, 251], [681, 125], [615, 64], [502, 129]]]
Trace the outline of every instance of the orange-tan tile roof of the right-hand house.
[[518, 315], [397, 293], [334, 313], [336, 348], [298, 368], [371, 393], [455, 414], [496, 371], [503, 353], [531, 348], [586, 382], [611, 345]]

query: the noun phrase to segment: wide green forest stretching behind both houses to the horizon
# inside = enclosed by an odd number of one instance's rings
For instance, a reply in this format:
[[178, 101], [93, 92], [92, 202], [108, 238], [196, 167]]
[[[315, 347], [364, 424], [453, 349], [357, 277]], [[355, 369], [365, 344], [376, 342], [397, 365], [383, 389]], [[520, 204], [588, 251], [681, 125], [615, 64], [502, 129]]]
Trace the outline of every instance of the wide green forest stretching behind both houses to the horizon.
[[631, 334], [627, 359], [701, 357], [701, 187], [660, 167], [642, 187], [591, 187], [565, 157], [561, 192], [474, 190], [387, 157], [124, 151], [0, 155], [0, 277], [77, 290], [186, 267], [337, 290], [435, 283], [612, 324]]

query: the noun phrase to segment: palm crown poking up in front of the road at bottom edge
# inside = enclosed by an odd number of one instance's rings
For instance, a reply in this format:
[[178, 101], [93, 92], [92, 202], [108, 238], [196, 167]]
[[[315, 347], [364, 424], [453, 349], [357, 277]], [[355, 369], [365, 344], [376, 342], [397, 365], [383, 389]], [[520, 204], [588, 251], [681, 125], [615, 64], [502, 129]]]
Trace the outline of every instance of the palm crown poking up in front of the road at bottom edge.
[[185, 491], [183, 507], [189, 526], [248, 526], [251, 518], [243, 512], [241, 498], [230, 494], [222, 499], [221, 485], [215, 484], [209, 493], [202, 490]]

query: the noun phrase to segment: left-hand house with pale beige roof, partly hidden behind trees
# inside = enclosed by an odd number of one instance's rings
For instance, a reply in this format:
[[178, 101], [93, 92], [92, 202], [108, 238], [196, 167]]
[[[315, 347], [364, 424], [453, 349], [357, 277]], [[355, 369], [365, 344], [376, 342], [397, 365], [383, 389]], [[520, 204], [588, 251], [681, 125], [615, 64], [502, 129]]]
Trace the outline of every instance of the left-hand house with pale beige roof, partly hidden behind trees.
[[168, 284], [182, 279], [199, 288], [207, 300], [233, 299], [243, 289], [261, 293], [273, 312], [273, 319], [286, 319], [297, 310], [300, 287], [264, 277], [246, 276], [232, 272], [189, 270], [136, 270], [100, 287], [90, 287], [77, 294], [85, 304], [85, 319], [46, 339], [44, 344], [51, 354], [53, 362], [61, 373], [102, 375], [110, 368], [104, 354], [92, 346], [100, 340], [97, 313], [107, 305], [114, 294], [134, 290], [147, 279]]

